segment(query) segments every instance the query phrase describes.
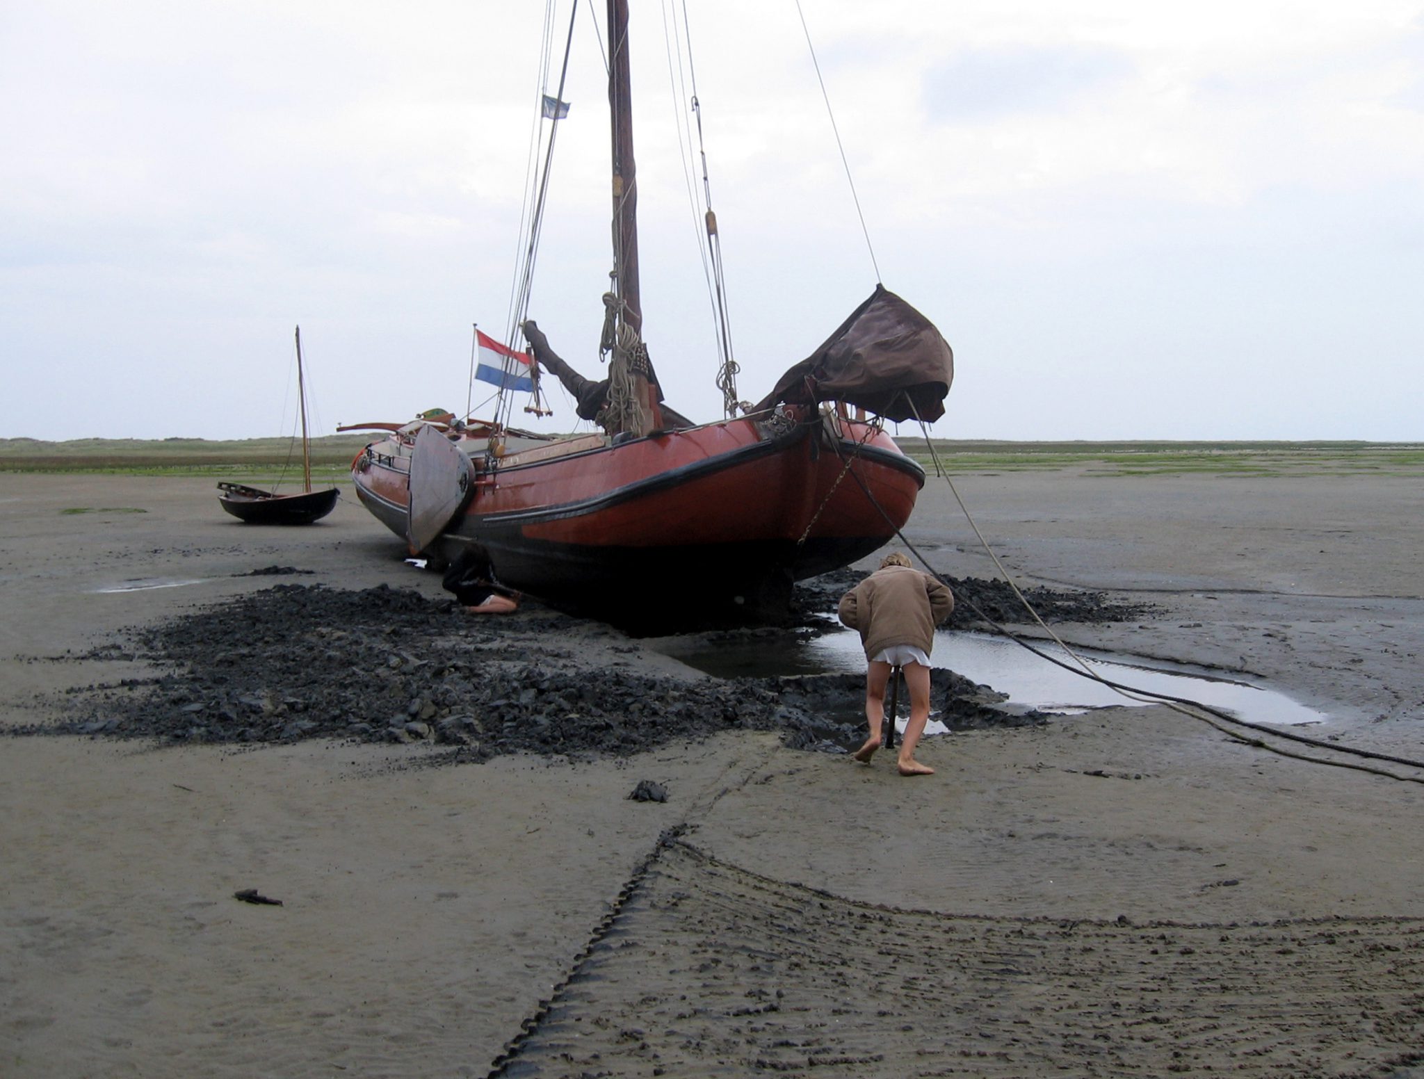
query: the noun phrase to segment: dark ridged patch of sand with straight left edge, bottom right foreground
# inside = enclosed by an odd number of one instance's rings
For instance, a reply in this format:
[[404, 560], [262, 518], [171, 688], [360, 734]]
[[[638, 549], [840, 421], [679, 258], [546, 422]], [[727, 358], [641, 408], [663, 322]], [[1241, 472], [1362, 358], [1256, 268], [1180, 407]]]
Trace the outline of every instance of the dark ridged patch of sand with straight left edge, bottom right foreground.
[[1420, 1046], [1424, 920], [900, 911], [674, 843], [503, 1073], [1360, 1076]]

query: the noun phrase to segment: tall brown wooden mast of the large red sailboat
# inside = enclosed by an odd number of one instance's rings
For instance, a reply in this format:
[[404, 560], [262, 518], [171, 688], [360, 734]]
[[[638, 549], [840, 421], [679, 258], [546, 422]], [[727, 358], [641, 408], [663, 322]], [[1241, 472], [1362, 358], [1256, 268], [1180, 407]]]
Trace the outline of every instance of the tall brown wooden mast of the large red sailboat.
[[[632, 155], [632, 75], [628, 64], [628, 0], [608, 0], [608, 104], [612, 112], [614, 266], [622, 300], [621, 320], [642, 337], [642, 295], [638, 288], [638, 167]], [[646, 434], [662, 426], [658, 394], [642, 364], [634, 364], [634, 400]]]

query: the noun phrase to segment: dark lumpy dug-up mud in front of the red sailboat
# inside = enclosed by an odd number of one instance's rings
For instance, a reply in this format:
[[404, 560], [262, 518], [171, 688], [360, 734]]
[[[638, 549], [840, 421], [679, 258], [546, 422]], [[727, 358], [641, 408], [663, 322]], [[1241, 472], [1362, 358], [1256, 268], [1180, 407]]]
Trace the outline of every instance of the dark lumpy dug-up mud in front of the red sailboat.
[[[837, 581], [820, 588], [839, 596]], [[413, 591], [276, 585], [90, 653], [161, 673], [73, 689], [56, 723], [24, 733], [419, 740], [461, 760], [627, 756], [735, 727], [779, 730], [793, 747], [827, 752], [863, 739], [860, 675], [678, 678], [649, 673], [641, 652], [609, 626], [533, 604], [470, 618]], [[1044, 722], [1002, 709], [1000, 695], [950, 670], [936, 670], [934, 693], [951, 729]]]

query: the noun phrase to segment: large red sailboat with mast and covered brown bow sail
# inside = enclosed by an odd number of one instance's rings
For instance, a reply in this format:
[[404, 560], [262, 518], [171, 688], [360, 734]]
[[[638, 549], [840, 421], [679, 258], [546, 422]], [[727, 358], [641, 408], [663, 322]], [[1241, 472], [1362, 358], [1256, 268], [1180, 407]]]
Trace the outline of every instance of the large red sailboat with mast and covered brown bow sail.
[[[693, 424], [661, 403], [641, 340], [627, 0], [608, 9], [609, 379], [582, 379], [523, 325], [528, 372], [554, 373], [602, 431], [537, 441], [498, 421], [416, 421], [356, 458], [356, 493], [412, 552], [449, 561], [474, 548], [498, 581], [560, 605], [664, 625], [775, 619], [795, 581], [870, 554], [909, 520], [924, 470], [881, 417], [938, 419], [953, 354], [927, 319], [877, 286], [763, 401], [736, 406], [726, 394], [728, 411], [742, 414]], [[708, 231], [715, 243], [711, 214]]]

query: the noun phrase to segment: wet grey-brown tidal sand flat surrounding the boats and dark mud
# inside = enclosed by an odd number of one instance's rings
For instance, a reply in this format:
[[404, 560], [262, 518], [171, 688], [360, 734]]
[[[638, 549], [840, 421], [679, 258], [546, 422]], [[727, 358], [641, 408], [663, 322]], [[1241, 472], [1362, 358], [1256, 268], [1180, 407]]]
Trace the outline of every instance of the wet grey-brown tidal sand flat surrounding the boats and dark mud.
[[[1317, 737], [1424, 757], [1417, 480], [957, 484], [1022, 579], [1162, 608], [1072, 641], [1250, 672]], [[943, 481], [909, 535], [988, 575]], [[252, 569], [439, 595], [400, 554], [349, 497], [278, 531], [206, 481], [0, 475], [0, 725]], [[135, 582], [191, 584], [104, 591]], [[928, 740], [926, 780], [765, 733], [429, 757], [0, 740], [0, 1075], [1424, 1076], [1418, 770], [1135, 706]], [[642, 779], [668, 801], [627, 800]]]

